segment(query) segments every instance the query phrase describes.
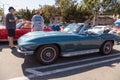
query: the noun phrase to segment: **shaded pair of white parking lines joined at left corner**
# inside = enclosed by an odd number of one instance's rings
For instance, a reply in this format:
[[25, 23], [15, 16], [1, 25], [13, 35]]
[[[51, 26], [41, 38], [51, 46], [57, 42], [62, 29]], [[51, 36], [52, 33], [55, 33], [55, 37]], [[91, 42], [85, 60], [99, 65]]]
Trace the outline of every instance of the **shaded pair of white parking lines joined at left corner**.
[[84, 62], [84, 61], [90, 61], [90, 60], [96, 60], [96, 59], [101, 59], [101, 58], [108, 58], [108, 57], [116, 56], [116, 55], [120, 55], [120, 54], [114, 54], [114, 55], [109, 55], [109, 56], [89, 58], [89, 59], [78, 60], [78, 61], [73, 61], [73, 62], [54, 64], [54, 65], [50, 65], [50, 66], [28, 68], [28, 69], [26, 69], [26, 72], [30, 72], [30, 73], [32, 73], [34, 75], [38, 75], [38, 76], [44, 76], [44, 75], [49, 75], [49, 74], [53, 74], [53, 73], [58, 73], [58, 72], [64, 72], [64, 71], [72, 70], [72, 69], [77, 69], [77, 68], [81, 68], [81, 67], [87, 67], [87, 66], [100, 64], [100, 63], [105, 63], [106, 61], [109, 62], [109, 61], [112, 61], [114, 59], [116, 60], [116, 59], [120, 59], [120, 58], [113, 58], [113, 59], [103, 60], [103, 61], [99, 61], [99, 62], [93, 62], [93, 63], [89, 63], [89, 64], [85, 64], [85, 65], [78, 65], [78, 66], [72, 66], [72, 67], [67, 67], [67, 68], [62, 68], [62, 69], [56, 69], [56, 70], [47, 71], [47, 72], [40, 72], [40, 71], [37, 71], [37, 70], [47, 69], [47, 68], [55, 67], [55, 66], [58, 66], [58, 65], [61, 66], [61, 65], [78, 63], [78, 62]]

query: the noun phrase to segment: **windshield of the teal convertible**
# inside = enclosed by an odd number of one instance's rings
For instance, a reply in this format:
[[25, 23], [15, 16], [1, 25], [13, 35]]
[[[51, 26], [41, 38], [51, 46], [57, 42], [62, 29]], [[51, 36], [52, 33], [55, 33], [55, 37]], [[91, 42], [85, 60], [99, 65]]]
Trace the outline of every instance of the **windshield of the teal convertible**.
[[67, 33], [78, 33], [80, 31], [80, 29], [82, 28], [83, 25], [78, 25], [78, 24], [69, 24], [68, 26], [66, 26], [66, 28], [63, 30], [63, 32], [67, 32]]

